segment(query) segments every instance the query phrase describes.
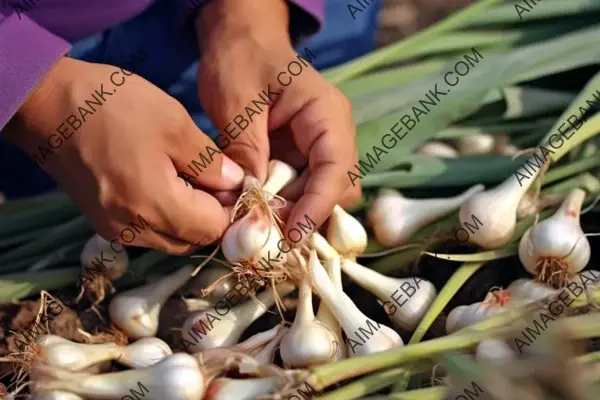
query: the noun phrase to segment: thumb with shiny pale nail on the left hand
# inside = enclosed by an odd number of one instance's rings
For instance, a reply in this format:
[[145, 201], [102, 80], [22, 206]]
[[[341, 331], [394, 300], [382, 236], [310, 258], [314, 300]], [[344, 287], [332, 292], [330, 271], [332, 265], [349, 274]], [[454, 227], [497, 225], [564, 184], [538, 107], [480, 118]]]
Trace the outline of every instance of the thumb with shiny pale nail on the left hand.
[[174, 146], [165, 149], [179, 176], [195, 187], [230, 190], [244, 179], [244, 171], [224, 155], [191, 118]]

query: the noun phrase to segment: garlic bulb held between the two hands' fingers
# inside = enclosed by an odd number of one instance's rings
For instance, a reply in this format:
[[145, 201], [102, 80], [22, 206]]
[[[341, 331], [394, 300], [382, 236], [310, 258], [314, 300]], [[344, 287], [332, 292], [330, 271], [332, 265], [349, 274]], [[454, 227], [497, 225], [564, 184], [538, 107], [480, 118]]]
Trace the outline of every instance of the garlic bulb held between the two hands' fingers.
[[231, 263], [242, 261], [259, 262], [261, 258], [279, 259], [285, 263], [286, 254], [278, 249], [283, 240], [279, 230], [264, 215], [259, 207], [253, 207], [248, 214], [232, 223], [221, 242], [223, 255]]

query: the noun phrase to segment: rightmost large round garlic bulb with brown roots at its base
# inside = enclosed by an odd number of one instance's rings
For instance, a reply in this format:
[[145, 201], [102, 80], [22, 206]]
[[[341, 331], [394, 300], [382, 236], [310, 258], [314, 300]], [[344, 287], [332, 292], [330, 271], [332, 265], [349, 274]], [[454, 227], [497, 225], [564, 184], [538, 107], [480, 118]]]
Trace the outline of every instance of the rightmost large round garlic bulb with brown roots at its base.
[[564, 285], [590, 260], [590, 242], [579, 222], [584, 199], [583, 190], [572, 190], [556, 213], [529, 228], [519, 243], [525, 269], [552, 286]]

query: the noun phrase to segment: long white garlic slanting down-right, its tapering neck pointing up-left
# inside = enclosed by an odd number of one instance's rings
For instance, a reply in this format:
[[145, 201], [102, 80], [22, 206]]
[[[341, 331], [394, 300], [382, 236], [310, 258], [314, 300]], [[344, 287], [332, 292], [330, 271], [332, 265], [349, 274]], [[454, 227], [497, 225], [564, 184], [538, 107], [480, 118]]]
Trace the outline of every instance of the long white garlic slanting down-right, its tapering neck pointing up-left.
[[[310, 254], [309, 270], [319, 297], [342, 325], [353, 354], [373, 354], [404, 345], [400, 335], [393, 329], [368, 318], [356, 307], [350, 297], [335, 287], [319, 262], [315, 250], [312, 250]], [[369, 330], [367, 331], [365, 328], [369, 328]], [[367, 332], [371, 335], [370, 337]], [[361, 333], [364, 338], [360, 335]], [[356, 338], [360, 339], [362, 343]]]

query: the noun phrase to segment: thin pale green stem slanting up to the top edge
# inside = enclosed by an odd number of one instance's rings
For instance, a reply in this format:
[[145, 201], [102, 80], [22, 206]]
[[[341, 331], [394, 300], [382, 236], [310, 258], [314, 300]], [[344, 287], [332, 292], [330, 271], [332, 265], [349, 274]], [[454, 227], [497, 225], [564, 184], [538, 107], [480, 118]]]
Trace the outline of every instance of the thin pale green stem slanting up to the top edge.
[[396, 54], [402, 51], [408, 51], [412, 47], [418, 47], [425, 44], [436, 35], [465, 25], [465, 23], [469, 22], [474, 16], [478, 15], [483, 10], [501, 2], [502, 0], [478, 1], [461, 12], [451, 15], [442, 22], [421, 31], [420, 33], [417, 33], [406, 40], [393, 43], [389, 46], [373, 51], [368, 55], [359, 57], [349, 63], [329, 69], [323, 72], [323, 76], [333, 84], [341, 83], [346, 79], [352, 78], [356, 75], [369, 71], [370, 69], [385, 64], [387, 59], [394, 57]]

